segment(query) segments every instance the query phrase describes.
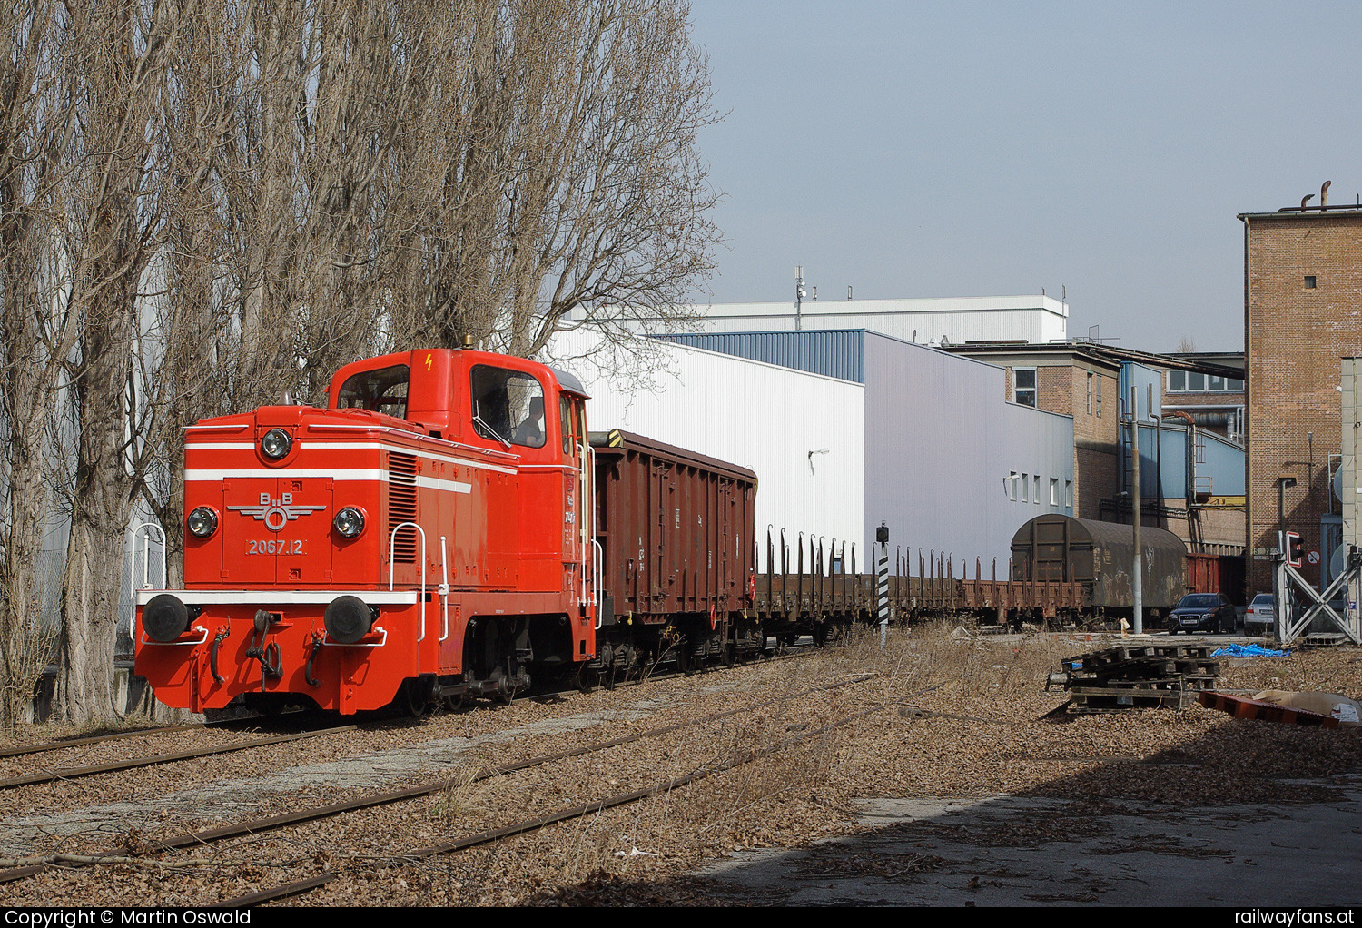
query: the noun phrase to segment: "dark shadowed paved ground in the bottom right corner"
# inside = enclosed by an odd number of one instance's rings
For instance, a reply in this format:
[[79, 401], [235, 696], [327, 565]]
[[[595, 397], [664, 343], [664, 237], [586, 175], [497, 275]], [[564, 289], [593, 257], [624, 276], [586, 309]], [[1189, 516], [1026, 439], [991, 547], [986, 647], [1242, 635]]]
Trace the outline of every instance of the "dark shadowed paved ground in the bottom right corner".
[[791, 906], [1362, 903], [1362, 775], [1335, 805], [1175, 814], [1144, 803], [1000, 796], [866, 804], [873, 831], [734, 856], [704, 875]]

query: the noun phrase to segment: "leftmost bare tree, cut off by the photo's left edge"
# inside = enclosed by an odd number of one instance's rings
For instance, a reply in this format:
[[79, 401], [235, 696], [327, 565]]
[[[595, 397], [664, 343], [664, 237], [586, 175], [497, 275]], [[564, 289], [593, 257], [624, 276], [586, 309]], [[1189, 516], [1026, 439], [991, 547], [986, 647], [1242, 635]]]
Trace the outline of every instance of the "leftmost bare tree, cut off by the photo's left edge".
[[46, 664], [39, 567], [53, 529], [48, 424], [71, 347], [53, 230], [78, 86], [61, 3], [0, 8], [0, 725], [27, 718]]

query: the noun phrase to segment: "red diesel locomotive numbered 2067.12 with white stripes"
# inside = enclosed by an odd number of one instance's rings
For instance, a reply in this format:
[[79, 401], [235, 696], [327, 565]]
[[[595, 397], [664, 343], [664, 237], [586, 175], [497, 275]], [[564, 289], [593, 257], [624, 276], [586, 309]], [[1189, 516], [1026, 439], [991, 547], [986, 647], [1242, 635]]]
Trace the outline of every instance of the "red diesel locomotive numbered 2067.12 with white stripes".
[[571, 375], [471, 350], [342, 368], [327, 409], [185, 439], [184, 590], [138, 594], [172, 706], [509, 696], [595, 657], [591, 451]]

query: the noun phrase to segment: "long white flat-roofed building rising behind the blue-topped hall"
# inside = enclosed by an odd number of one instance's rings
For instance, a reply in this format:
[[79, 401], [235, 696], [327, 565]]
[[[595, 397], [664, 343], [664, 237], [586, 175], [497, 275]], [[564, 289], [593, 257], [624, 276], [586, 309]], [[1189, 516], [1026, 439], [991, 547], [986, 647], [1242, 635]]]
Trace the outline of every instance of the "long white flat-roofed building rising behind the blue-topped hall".
[[[917, 300], [813, 300], [716, 303], [689, 309], [692, 331], [767, 332], [865, 328], [915, 345], [1068, 341], [1069, 307], [1041, 296]], [[648, 318], [637, 318], [640, 327]]]

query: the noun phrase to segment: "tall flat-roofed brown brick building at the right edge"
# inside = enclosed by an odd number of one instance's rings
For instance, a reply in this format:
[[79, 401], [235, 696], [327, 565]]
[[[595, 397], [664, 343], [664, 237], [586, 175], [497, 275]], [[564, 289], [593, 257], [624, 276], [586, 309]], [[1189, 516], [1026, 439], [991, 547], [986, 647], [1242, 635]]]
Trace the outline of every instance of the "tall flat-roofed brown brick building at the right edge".
[[[1318, 583], [1336, 544], [1327, 537], [1327, 516], [1339, 511], [1329, 484], [1340, 444], [1340, 362], [1362, 356], [1362, 207], [1302, 203], [1239, 219], [1246, 544], [1275, 548], [1284, 521], [1314, 555], [1302, 575]], [[1295, 485], [1279, 484], [1283, 478]], [[1249, 590], [1271, 586], [1271, 561], [1250, 560]]]

